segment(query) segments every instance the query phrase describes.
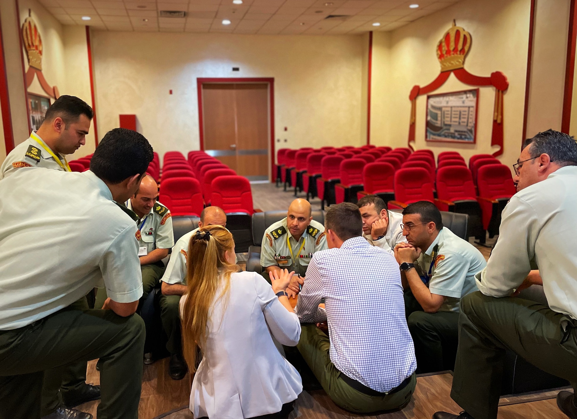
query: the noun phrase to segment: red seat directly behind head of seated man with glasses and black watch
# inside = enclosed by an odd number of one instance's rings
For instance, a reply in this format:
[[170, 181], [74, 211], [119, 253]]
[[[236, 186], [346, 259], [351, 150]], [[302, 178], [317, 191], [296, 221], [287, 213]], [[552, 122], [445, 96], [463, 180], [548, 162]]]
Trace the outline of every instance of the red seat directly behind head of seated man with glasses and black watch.
[[433, 181], [426, 169], [399, 169], [395, 172], [394, 188], [395, 201], [388, 202], [389, 208], [404, 208], [417, 201], [429, 201], [439, 206], [439, 200], [433, 197]]

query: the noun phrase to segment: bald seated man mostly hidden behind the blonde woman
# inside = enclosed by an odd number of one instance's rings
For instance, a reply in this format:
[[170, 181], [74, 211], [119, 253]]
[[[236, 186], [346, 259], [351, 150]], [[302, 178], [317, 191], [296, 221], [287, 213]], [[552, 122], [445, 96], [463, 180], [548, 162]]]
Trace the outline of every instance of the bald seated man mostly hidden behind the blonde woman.
[[180, 297], [188, 292], [186, 287], [186, 254], [190, 237], [203, 227], [222, 225], [226, 227], [226, 214], [218, 206], [207, 206], [200, 213], [198, 228], [186, 233], [173, 247], [170, 261], [162, 277], [162, 296], [160, 297], [160, 318], [168, 336], [166, 349], [170, 352], [168, 375], [173, 380], [182, 380], [188, 368], [182, 357], [181, 325], [178, 310]]

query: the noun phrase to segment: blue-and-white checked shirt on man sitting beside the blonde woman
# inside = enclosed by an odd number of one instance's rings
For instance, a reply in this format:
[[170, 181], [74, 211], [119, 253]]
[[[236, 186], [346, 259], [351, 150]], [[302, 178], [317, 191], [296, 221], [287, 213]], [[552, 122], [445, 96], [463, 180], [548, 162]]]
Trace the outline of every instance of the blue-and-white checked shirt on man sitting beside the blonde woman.
[[417, 368], [399, 264], [361, 236], [313, 255], [295, 312], [301, 323], [327, 321], [332, 363], [373, 390], [387, 392]]

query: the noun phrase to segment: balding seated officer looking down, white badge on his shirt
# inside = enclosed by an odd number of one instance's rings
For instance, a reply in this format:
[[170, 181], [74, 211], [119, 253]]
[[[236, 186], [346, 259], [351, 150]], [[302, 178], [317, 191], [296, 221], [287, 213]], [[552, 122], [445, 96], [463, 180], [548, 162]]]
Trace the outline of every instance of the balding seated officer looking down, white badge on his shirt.
[[[158, 186], [152, 176], [145, 176], [136, 194], [126, 201], [126, 207], [138, 216], [138, 256], [143, 275], [144, 301], [164, 273], [162, 259], [168, 256], [168, 250], [174, 246], [173, 222], [170, 211], [156, 201]], [[103, 288], [98, 290], [95, 307], [100, 308], [106, 300]]]

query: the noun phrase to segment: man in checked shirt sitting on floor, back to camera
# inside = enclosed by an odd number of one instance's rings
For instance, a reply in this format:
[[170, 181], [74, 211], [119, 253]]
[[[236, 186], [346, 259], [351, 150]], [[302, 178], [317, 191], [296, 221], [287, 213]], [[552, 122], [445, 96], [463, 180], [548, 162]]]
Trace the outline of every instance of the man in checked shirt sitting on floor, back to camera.
[[[362, 237], [362, 218], [349, 202], [325, 216], [328, 250], [316, 252], [295, 312], [298, 350], [332, 401], [350, 412], [406, 405], [417, 379], [394, 257]], [[324, 298], [324, 307], [321, 300]], [[328, 323], [329, 336], [316, 324]]]

